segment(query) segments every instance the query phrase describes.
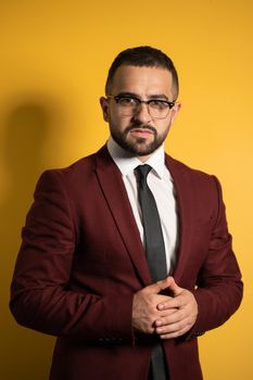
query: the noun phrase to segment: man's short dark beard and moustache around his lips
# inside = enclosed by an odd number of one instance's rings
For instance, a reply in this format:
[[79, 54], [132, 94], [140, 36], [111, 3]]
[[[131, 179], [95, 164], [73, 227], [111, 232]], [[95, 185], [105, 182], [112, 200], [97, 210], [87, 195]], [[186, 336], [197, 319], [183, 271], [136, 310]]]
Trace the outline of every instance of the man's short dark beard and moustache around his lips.
[[[152, 130], [152, 132], [154, 134], [154, 139], [152, 142], [150, 142], [148, 145], [146, 144], [146, 139], [143, 138], [138, 138], [136, 140], [136, 142], [129, 142], [127, 141], [127, 135], [130, 130], [132, 129], [149, 129]], [[154, 127], [152, 126], [130, 126], [127, 127], [124, 131], [124, 134], [121, 134], [118, 131], [114, 131], [111, 129], [111, 135], [114, 139], [114, 141], [116, 141], [118, 143], [119, 147], [122, 147], [124, 150], [126, 150], [129, 153], [132, 153], [134, 155], [137, 156], [143, 156], [143, 155], [149, 155], [151, 153], [153, 153], [159, 147], [162, 145], [162, 143], [164, 142], [167, 134], [163, 135], [163, 136], [157, 136], [157, 131]]]

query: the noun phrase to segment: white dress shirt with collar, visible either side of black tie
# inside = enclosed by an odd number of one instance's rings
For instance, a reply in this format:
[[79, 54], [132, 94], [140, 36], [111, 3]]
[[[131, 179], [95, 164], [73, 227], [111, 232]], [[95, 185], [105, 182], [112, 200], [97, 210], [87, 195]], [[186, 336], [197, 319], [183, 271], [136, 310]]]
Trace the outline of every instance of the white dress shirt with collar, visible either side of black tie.
[[138, 201], [137, 180], [134, 170], [137, 166], [142, 164], [148, 164], [152, 167], [147, 181], [157, 205], [164, 237], [167, 274], [172, 274], [177, 258], [178, 216], [173, 178], [165, 166], [164, 147], [160, 147], [144, 163], [122, 149], [112, 137], [110, 137], [107, 141], [107, 149], [113, 161], [122, 172], [123, 181], [126, 187], [142, 243], [143, 227], [141, 223], [141, 210]]

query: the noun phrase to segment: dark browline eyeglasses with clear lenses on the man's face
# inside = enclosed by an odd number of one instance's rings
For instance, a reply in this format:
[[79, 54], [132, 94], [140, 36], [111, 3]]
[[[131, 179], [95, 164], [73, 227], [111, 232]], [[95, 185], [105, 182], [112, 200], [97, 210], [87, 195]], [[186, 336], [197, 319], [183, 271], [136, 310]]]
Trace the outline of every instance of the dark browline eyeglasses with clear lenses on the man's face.
[[140, 107], [141, 103], [147, 104], [148, 112], [152, 118], [165, 118], [168, 115], [169, 110], [175, 105], [175, 102], [167, 102], [163, 99], [150, 99], [150, 100], [140, 100], [135, 97], [127, 96], [111, 96], [118, 105], [122, 116], [132, 116], [135, 115]]

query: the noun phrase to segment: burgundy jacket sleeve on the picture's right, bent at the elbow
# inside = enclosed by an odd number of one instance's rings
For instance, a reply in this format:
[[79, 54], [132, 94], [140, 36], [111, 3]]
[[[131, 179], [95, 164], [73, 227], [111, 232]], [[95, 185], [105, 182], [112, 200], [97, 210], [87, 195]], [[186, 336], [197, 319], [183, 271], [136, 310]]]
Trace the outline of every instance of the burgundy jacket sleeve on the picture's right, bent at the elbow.
[[187, 334], [188, 339], [223, 325], [237, 311], [242, 300], [241, 273], [231, 248], [222, 188], [218, 180], [215, 177], [213, 179], [217, 189], [216, 218], [208, 252], [193, 292], [199, 314], [195, 325]]

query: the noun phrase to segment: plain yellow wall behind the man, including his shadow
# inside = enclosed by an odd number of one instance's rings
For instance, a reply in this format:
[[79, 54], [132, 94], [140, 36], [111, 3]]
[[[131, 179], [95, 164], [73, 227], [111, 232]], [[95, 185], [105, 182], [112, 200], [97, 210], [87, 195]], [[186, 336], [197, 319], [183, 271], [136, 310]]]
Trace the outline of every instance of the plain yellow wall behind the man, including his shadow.
[[54, 339], [8, 309], [20, 231], [41, 170], [66, 166], [107, 138], [99, 97], [127, 47], [173, 58], [182, 109], [167, 152], [222, 180], [245, 282], [240, 311], [200, 339], [205, 380], [251, 380], [252, 0], [0, 1], [0, 377], [45, 380]]

